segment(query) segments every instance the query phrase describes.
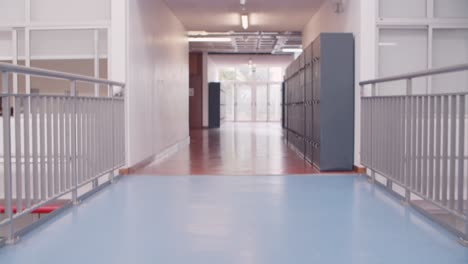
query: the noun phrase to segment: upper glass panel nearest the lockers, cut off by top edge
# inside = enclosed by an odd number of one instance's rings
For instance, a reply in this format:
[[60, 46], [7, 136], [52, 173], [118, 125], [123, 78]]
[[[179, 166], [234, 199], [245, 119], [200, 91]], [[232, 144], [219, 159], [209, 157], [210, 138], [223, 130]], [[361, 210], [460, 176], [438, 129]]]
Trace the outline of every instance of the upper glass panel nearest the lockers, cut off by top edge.
[[[442, 0], [445, 1], [445, 0]], [[421, 18], [427, 16], [426, 0], [380, 0], [382, 18]]]

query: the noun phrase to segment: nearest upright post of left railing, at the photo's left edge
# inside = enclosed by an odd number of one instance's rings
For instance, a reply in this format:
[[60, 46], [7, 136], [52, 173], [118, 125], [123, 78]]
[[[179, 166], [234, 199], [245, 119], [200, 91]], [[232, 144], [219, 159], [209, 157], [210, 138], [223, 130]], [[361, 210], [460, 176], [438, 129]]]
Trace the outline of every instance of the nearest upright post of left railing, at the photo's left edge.
[[11, 175], [11, 109], [10, 109], [9, 72], [2, 71], [2, 115], [3, 115], [3, 162], [4, 162], [4, 189], [5, 214], [8, 218], [6, 243], [14, 244], [15, 231], [13, 227], [13, 183]]

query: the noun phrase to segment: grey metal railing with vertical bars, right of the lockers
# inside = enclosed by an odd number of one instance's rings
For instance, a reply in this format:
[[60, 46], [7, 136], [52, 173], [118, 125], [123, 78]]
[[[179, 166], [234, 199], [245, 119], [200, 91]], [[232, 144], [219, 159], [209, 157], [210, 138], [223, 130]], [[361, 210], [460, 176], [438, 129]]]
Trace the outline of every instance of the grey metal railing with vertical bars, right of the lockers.
[[[408, 204], [428, 203], [461, 222], [451, 230], [466, 242], [468, 87], [456, 93], [413, 91], [415, 78], [463, 71], [468, 64], [361, 82], [361, 163], [373, 182], [383, 177], [392, 191], [398, 185]], [[401, 80], [403, 94], [377, 93], [386, 89], [377, 84]]]

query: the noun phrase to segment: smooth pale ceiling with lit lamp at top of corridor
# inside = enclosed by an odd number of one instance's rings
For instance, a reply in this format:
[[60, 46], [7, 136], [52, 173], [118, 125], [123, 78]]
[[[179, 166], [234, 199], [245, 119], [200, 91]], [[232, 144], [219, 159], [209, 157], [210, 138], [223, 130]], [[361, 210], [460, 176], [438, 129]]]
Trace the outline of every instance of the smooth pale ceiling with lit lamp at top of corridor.
[[[239, 0], [165, 0], [187, 30], [243, 31]], [[247, 0], [248, 31], [301, 31], [325, 0]]]

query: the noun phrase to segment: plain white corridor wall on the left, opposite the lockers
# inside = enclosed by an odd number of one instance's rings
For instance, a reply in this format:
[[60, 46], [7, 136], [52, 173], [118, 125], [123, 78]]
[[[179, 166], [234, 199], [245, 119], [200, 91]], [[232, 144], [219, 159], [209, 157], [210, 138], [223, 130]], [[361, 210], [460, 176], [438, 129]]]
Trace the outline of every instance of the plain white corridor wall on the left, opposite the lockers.
[[128, 0], [128, 165], [189, 135], [188, 41], [161, 0]]

